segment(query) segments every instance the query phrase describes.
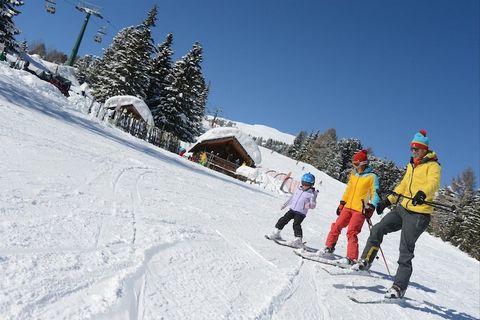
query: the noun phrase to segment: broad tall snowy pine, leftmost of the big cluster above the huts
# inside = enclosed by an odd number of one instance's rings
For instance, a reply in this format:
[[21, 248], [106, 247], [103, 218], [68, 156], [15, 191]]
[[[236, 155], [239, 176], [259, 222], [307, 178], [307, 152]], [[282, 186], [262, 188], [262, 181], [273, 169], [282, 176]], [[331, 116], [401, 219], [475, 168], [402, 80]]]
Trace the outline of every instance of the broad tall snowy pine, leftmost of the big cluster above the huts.
[[115, 95], [146, 98], [150, 85], [150, 56], [154, 48], [150, 31], [152, 10], [141, 25], [120, 30], [112, 45], [105, 50], [91, 84], [98, 101], [105, 102]]

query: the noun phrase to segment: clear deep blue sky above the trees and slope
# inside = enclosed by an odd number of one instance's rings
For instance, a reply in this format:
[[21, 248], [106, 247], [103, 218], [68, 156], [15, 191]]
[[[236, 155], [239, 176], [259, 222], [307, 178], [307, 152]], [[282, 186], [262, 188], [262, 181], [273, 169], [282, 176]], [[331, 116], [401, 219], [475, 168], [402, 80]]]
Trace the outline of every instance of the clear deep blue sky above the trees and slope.
[[[477, 0], [91, 0], [80, 55], [102, 54], [123, 27], [158, 6], [156, 43], [174, 35], [175, 58], [195, 41], [221, 116], [298, 134], [335, 128], [403, 166], [426, 129], [442, 184], [480, 175], [480, 2]], [[70, 54], [84, 16], [73, 0], [25, 1], [17, 38]], [[107, 24], [107, 21], [110, 22]], [[95, 32], [108, 25], [102, 44]], [[478, 182], [477, 182], [478, 184]], [[478, 185], [477, 185], [478, 186]]]

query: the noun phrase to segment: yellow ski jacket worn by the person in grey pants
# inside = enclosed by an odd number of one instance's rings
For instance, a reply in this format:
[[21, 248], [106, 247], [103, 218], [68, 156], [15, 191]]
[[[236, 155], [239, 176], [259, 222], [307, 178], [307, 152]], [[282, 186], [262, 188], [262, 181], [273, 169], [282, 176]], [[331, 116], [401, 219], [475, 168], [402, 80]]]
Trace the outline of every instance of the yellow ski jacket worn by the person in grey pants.
[[[433, 201], [435, 193], [440, 188], [441, 171], [440, 164], [437, 162], [437, 155], [435, 152], [429, 151], [416, 167], [414, 167], [413, 160], [410, 160], [410, 163], [407, 165], [407, 171], [394, 192], [413, 198], [419, 190], [422, 190], [427, 196], [425, 201]], [[428, 204], [414, 206], [410, 199], [396, 195], [388, 196], [388, 200], [393, 204], [397, 203], [400, 198], [400, 204], [407, 210], [424, 214], [433, 212], [433, 208]]]

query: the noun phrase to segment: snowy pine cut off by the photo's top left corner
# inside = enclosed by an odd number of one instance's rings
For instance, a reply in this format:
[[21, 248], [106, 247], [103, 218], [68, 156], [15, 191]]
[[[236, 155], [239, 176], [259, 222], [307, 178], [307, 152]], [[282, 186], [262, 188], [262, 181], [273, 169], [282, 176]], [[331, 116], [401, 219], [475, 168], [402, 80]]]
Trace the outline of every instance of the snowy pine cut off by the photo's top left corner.
[[17, 7], [22, 6], [22, 0], [0, 0], [0, 43], [5, 45], [6, 51], [18, 52], [19, 43], [15, 36], [20, 30], [15, 26], [13, 17], [20, 14]]

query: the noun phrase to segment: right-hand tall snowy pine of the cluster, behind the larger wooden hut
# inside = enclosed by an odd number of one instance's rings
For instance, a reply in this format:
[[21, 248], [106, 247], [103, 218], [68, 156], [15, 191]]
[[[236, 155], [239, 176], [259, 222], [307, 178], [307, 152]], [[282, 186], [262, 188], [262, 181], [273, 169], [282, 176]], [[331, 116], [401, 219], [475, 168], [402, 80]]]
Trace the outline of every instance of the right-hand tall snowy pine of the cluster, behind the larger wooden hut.
[[170, 85], [165, 88], [165, 102], [161, 103], [161, 117], [157, 124], [186, 142], [195, 141], [195, 137], [202, 133], [202, 118], [208, 95], [200, 66], [202, 51], [197, 42], [175, 63], [167, 76]]

